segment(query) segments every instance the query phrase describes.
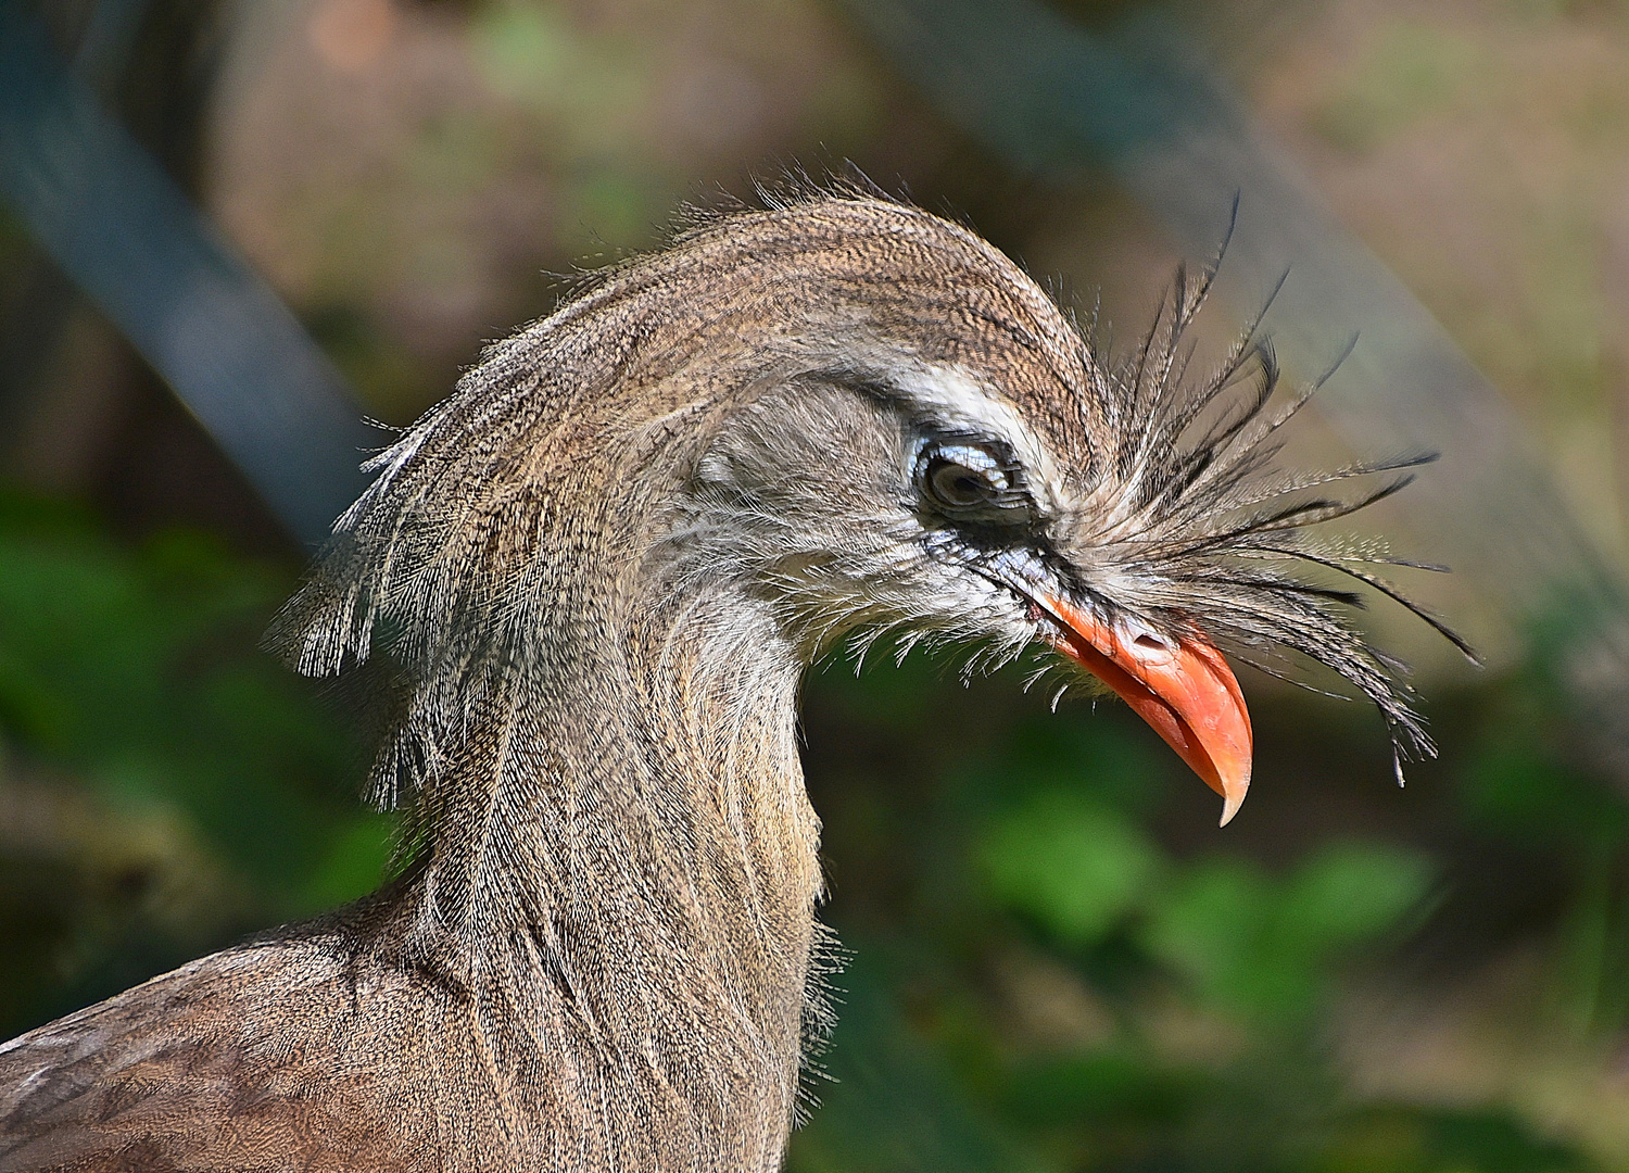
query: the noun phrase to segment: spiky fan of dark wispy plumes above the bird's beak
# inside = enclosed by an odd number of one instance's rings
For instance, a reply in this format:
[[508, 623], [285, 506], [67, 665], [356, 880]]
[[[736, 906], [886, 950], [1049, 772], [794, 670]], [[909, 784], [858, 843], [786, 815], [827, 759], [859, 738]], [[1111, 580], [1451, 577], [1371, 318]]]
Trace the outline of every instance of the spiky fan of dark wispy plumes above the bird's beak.
[[[1295, 684], [1306, 684], [1298, 671], [1305, 661], [1333, 670], [1380, 710], [1401, 782], [1404, 761], [1435, 756], [1406, 683], [1407, 668], [1350, 622], [1350, 613], [1365, 606], [1362, 593], [1310, 582], [1297, 564], [1334, 572], [1399, 603], [1474, 663], [1476, 653], [1453, 629], [1377, 570], [1447, 567], [1394, 557], [1373, 539], [1306, 533], [1403, 490], [1414, 479], [1412, 469], [1435, 455], [1362, 461], [1318, 474], [1276, 472], [1285, 425], [1346, 354], [1326, 375], [1285, 394], [1258, 316], [1209, 376], [1188, 380], [1192, 349], [1186, 336], [1220, 261], [1222, 253], [1197, 280], [1179, 269], [1142, 345], [1095, 368], [1095, 401], [1108, 422], [1101, 435], [1111, 442], [1104, 461], [1114, 476], [1101, 494], [1101, 512], [1085, 508], [1090, 528], [1075, 541], [1104, 554], [1095, 567], [1100, 573], [1108, 577], [1117, 564], [1142, 580], [1127, 595], [1101, 598], [1104, 611], [1135, 606], [1139, 617], [1166, 630], [1202, 621], [1236, 658]], [[1342, 494], [1354, 481], [1378, 484]]]

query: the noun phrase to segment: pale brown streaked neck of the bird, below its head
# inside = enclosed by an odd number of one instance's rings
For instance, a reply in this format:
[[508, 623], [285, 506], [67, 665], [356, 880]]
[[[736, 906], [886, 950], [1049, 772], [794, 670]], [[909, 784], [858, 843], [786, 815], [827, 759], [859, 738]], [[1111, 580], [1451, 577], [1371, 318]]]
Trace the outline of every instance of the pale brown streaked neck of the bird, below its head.
[[[487, 1021], [513, 1044], [544, 1041], [528, 1062], [570, 1056], [598, 1085], [573, 1098], [596, 1144], [634, 1155], [613, 1134], [655, 1111], [679, 1155], [771, 1166], [819, 1010], [801, 665], [730, 591], [611, 595], [627, 603], [551, 624], [569, 650], [471, 674], [391, 919], [411, 955], [507, 1007]], [[595, 1095], [627, 1106], [596, 1114]]]

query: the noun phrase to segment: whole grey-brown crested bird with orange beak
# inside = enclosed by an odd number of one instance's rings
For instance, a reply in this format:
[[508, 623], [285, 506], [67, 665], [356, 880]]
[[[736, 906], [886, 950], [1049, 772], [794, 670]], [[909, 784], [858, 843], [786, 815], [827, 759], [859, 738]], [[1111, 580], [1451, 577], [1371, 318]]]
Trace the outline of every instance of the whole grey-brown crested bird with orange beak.
[[797, 702], [832, 648], [1095, 679], [1223, 823], [1253, 733], [1222, 648], [1323, 665], [1399, 769], [1432, 753], [1357, 588], [1458, 637], [1403, 559], [1306, 533], [1422, 458], [1276, 471], [1316, 384], [1259, 319], [1189, 375], [1214, 277], [1109, 355], [973, 230], [828, 186], [490, 345], [269, 637], [384, 681], [391, 878], [0, 1048], [0, 1168], [779, 1168], [831, 1018]]

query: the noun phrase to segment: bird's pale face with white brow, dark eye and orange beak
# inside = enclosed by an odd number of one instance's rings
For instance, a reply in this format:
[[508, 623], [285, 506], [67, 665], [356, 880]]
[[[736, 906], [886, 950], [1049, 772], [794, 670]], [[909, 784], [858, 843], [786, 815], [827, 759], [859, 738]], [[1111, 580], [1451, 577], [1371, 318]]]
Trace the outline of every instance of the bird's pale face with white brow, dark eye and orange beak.
[[764, 600], [805, 663], [927, 640], [968, 647], [971, 673], [1046, 645], [1147, 720], [1227, 821], [1249, 784], [1245, 697], [1170, 538], [1124, 508], [1139, 485], [1106, 492], [1101, 463], [976, 367], [824, 371], [720, 430], [670, 543], [697, 580]]

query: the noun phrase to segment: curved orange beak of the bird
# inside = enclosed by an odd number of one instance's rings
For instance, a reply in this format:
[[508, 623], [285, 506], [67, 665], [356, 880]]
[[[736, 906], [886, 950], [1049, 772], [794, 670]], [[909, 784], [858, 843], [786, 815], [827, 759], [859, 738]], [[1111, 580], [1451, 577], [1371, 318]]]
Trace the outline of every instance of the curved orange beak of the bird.
[[1249, 789], [1253, 741], [1245, 694], [1215, 645], [1201, 637], [1127, 639], [1062, 600], [1038, 601], [1065, 629], [1052, 647], [1114, 689], [1222, 795], [1227, 826]]

